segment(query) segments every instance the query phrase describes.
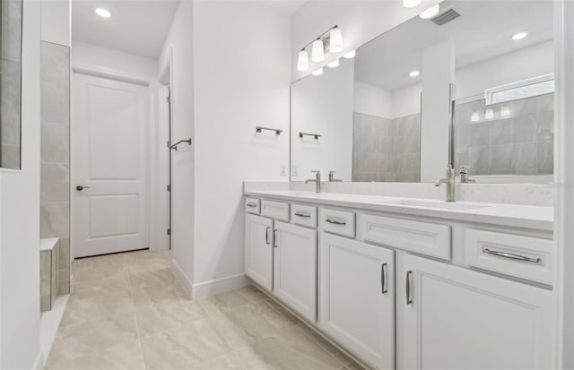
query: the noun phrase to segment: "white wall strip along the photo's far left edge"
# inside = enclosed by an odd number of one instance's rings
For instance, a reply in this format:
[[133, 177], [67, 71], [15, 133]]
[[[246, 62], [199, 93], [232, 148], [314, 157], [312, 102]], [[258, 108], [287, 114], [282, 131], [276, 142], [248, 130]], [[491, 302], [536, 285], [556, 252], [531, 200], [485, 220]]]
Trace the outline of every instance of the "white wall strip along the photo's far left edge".
[[22, 170], [0, 169], [0, 368], [41, 366], [39, 348], [40, 2], [23, 2]]

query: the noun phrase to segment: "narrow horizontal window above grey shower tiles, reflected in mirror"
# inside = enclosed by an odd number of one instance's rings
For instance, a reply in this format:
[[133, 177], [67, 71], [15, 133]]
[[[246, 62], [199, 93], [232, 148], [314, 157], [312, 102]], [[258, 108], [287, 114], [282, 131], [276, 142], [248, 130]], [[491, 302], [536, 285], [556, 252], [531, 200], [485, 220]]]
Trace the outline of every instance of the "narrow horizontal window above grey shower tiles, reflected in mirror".
[[487, 89], [484, 91], [484, 98], [486, 104], [490, 105], [531, 98], [551, 92], [554, 92], [554, 73]]

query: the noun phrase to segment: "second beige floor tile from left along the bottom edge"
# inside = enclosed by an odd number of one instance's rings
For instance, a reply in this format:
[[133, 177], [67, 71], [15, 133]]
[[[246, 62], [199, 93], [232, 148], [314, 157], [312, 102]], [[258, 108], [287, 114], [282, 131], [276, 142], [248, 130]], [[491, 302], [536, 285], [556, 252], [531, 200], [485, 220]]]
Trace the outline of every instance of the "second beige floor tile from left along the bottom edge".
[[230, 350], [207, 319], [144, 337], [141, 342], [149, 369], [192, 369]]

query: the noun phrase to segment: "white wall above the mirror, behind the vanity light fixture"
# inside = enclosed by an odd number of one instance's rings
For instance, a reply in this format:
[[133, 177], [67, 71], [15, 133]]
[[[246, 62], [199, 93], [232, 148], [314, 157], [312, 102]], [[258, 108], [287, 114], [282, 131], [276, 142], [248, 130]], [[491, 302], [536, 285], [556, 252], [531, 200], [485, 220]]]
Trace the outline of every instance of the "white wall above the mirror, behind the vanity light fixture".
[[[421, 5], [404, 8], [401, 1], [309, 1], [291, 18], [291, 81], [326, 65], [340, 54], [360, 47], [370, 39], [413, 18], [441, 0], [424, 0]], [[337, 24], [343, 30], [343, 53], [327, 55], [321, 64], [310, 63], [309, 71], [297, 71], [297, 54], [313, 39]]]

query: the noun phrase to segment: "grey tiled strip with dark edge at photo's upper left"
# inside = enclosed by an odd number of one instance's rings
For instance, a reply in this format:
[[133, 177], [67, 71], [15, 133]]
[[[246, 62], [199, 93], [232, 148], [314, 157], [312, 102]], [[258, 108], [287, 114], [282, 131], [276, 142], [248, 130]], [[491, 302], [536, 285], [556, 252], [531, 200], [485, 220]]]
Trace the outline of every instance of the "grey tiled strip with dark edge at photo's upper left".
[[20, 168], [22, 0], [3, 0], [0, 53], [0, 167]]

